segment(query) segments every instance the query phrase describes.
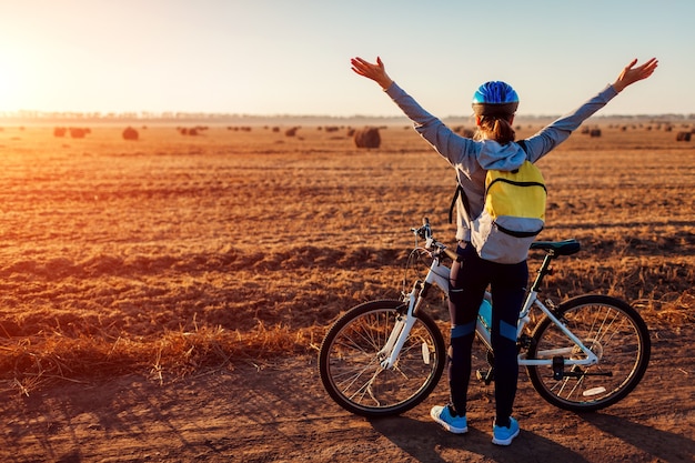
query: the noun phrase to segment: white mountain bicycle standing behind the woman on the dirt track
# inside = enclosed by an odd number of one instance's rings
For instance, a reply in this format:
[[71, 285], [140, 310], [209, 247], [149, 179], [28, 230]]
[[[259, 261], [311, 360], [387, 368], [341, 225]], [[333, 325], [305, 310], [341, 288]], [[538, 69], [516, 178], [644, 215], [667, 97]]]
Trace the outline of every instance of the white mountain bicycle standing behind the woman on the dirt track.
[[[401, 300], [375, 300], [350, 309], [321, 343], [323, 386], [339, 405], [359, 415], [395, 415], [413, 409], [430, 395], [444, 370], [444, 336], [423, 308], [432, 286], [447, 294], [450, 268], [443, 261], [456, 254], [433, 238], [426, 219], [411, 231], [415, 246], [406, 269], [413, 259], [431, 259], [424, 280], [403, 291]], [[629, 304], [607, 295], [580, 295], [558, 305], [550, 299], [542, 302], [538, 292], [552, 272], [551, 263], [578, 252], [581, 245], [576, 240], [537, 241], [531, 249], [544, 251], [545, 256], [518, 318], [518, 364], [526, 368], [536, 392], [555, 406], [588, 412], [615, 404], [635, 389], [647, 369], [651, 341], [644, 320]], [[490, 299], [486, 293], [475, 330], [490, 364], [477, 376], [487, 384], [494, 381]], [[534, 309], [544, 316], [531, 330]]]

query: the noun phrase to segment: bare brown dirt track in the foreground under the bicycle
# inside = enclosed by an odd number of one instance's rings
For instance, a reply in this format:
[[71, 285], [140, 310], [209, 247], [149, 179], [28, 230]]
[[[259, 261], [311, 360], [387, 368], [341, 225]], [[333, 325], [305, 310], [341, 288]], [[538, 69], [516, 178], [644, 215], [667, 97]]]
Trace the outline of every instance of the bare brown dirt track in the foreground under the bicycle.
[[540, 399], [525, 373], [510, 447], [491, 443], [492, 386], [471, 385], [470, 432], [429, 416], [446, 382], [414, 410], [366, 420], [334, 404], [314, 356], [236, 363], [164, 383], [139, 375], [59, 383], [4, 396], [0, 459], [12, 462], [693, 462], [695, 328], [652, 328], [642, 383], [618, 404], [576, 414]]

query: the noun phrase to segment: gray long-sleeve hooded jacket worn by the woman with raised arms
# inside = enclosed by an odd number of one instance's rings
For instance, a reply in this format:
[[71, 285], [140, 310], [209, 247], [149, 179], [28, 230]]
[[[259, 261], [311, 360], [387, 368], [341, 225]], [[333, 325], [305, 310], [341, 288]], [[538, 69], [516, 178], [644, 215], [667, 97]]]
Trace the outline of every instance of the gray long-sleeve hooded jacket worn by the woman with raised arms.
[[487, 170], [511, 171], [517, 169], [526, 159], [536, 162], [565, 141], [584, 120], [617, 95], [613, 85], [607, 85], [573, 112], [557, 119], [526, 139], [526, 150], [524, 151], [517, 143], [501, 145], [494, 140], [475, 141], [459, 135], [441, 120], [425, 111], [395, 82], [385, 92], [414, 122], [415, 130], [422, 138], [456, 170], [459, 183], [469, 198], [471, 214], [473, 215], [469, 218], [461, 201], [459, 201], [456, 208], [456, 240], [459, 241], [471, 240], [471, 221], [483, 210]]

